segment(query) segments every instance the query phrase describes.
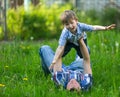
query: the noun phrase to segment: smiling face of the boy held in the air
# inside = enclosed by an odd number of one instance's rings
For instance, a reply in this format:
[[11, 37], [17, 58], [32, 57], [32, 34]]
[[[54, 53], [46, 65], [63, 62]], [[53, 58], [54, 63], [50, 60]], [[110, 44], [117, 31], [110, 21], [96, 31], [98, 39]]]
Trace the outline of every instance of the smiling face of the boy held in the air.
[[68, 22], [64, 23], [64, 27], [66, 27], [71, 33], [76, 33], [77, 30], [77, 20], [70, 19]]

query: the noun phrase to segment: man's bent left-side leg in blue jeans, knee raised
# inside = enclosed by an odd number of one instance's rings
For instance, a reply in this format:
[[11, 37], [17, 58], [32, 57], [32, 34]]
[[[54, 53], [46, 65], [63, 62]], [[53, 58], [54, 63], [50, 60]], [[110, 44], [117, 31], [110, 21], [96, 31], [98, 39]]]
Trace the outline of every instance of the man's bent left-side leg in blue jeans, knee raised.
[[39, 54], [41, 58], [42, 68], [45, 74], [49, 74], [50, 73], [49, 66], [52, 63], [55, 53], [49, 46], [45, 45], [40, 48]]

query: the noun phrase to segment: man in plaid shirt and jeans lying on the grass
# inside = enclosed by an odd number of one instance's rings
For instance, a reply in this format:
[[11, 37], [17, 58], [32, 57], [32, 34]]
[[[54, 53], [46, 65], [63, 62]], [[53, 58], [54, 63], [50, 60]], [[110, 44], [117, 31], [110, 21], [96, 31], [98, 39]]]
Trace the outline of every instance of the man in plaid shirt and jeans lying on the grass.
[[[114, 27], [115, 25], [113, 24], [108, 26], [107, 29]], [[80, 91], [82, 89], [88, 91], [92, 86], [92, 70], [90, 67], [89, 51], [83, 37], [79, 39], [79, 45], [82, 58], [79, 56], [78, 60], [76, 59], [68, 66], [62, 63], [62, 57], [57, 57], [57, 61], [53, 64], [55, 56], [57, 54], [61, 55], [63, 52], [61, 54], [54, 53], [49, 46], [42, 46], [40, 48], [40, 57], [45, 74], [51, 73], [56, 85], [62, 85], [67, 90]]]

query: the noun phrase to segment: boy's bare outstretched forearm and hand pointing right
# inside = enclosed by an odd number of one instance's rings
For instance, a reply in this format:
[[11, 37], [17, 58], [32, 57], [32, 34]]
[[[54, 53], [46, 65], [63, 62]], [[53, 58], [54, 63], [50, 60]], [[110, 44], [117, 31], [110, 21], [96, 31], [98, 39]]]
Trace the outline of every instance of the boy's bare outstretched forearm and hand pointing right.
[[93, 30], [111, 30], [116, 27], [116, 24], [111, 24], [109, 26], [100, 26], [100, 25], [94, 25]]

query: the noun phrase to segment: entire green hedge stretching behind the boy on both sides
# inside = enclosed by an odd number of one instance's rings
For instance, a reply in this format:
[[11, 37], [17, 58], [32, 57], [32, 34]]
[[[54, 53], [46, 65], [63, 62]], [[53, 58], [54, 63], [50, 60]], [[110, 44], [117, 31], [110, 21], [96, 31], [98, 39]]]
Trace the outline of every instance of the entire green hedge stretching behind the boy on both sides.
[[[102, 12], [95, 9], [80, 11], [72, 8], [70, 4], [56, 5], [50, 7], [46, 5], [30, 6], [29, 12], [23, 6], [17, 9], [9, 9], [7, 12], [7, 27], [9, 39], [48, 39], [58, 38], [62, 24], [59, 16], [66, 9], [73, 9], [80, 22], [87, 24], [109, 25], [116, 23], [120, 25], [120, 12], [115, 8], [105, 8]], [[3, 34], [1, 33], [1, 37]], [[0, 37], [0, 38], [1, 38]]]

